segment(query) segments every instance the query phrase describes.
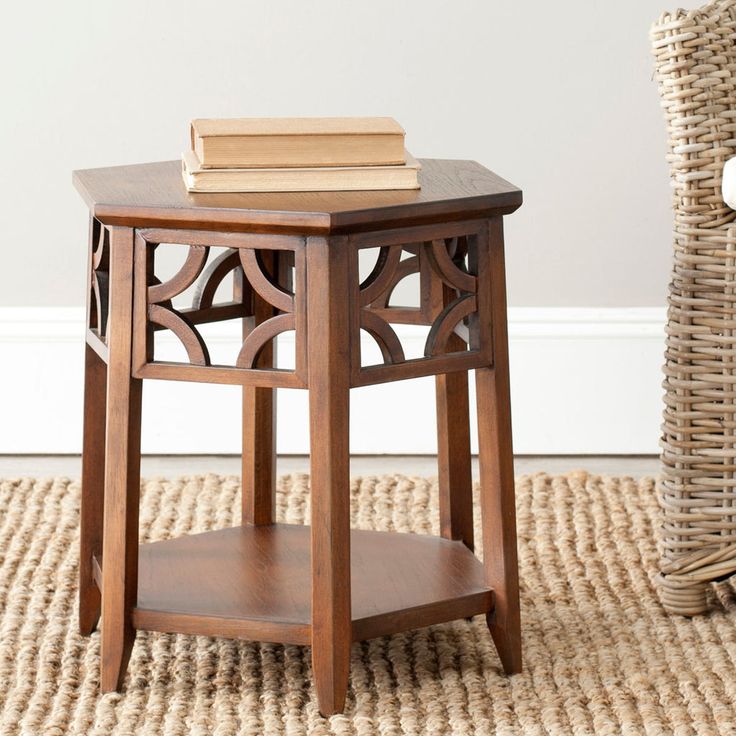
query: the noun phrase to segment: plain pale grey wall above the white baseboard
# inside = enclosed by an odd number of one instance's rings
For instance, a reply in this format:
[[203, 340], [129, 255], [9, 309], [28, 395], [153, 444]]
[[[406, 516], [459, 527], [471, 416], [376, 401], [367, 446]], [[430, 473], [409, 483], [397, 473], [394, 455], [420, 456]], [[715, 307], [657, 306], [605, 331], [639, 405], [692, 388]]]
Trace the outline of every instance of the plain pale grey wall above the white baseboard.
[[518, 306], [663, 302], [670, 215], [648, 29], [665, 0], [127, 0], [3, 7], [0, 305], [83, 297], [74, 168], [179, 156], [218, 115], [395, 116], [417, 156], [523, 188]]

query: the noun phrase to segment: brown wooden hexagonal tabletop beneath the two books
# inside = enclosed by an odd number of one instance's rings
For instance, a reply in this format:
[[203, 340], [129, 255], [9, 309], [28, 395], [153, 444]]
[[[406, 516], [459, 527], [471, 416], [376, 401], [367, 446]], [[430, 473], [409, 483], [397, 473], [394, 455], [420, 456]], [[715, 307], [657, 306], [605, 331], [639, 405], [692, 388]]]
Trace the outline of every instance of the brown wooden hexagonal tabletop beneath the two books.
[[508, 214], [521, 191], [475, 161], [421, 159], [421, 189], [193, 193], [181, 162], [74, 172], [92, 213], [110, 225], [337, 234]]

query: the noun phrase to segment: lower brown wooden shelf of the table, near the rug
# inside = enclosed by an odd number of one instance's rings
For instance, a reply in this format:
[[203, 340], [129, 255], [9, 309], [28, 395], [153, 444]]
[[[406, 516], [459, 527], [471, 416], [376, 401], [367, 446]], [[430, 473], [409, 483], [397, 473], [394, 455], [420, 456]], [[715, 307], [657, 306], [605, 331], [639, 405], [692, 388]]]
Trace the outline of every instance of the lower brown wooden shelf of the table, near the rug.
[[[350, 552], [354, 641], [493, 606], [483, 566], [461, 542], [353, 530]], [[308, 526], [233, 527], [144, 544], [138, 577], [136, 629], [311, 641]]]

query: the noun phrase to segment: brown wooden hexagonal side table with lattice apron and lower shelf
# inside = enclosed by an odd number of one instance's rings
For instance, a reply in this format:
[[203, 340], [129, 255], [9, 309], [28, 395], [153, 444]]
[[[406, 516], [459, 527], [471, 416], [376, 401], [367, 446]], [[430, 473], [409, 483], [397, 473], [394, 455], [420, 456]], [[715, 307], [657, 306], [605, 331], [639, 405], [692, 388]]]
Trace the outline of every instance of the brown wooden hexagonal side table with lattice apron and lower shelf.
[[[520, 670], [502, 216], [521, 192], [474, 162], [422, 165], [416, 192], [189, 194], [176, 161], [75, 173], [91, 211], [79, 615], [88, 634], [102, 614], [103, 691], [121, 686], [137, 629], [311, 645], [325, 715], [344, 706], [353, 641], [485, 613], [504, 669]], [[159, 278], [166, 249], [183, 263]], [[412, 274], [418, 303], [394, 305]], [[230, 319], [242, 347], [215, 361], [200, 326]], [[395, 323], [428, 326], [423, 355], [405, 355]], [[159, 330], [180, 362], [157, 359]], [[273, 339], [289, 330], [284, 368]], [[364, 364], [361, 331], [380, 363]], [[350, 389], [428, 375], [442, 537], [351, 531]], [[139, 546], [147, 378], [243, 386], [241, 526]], [[279, 387], [309, 390], [311, 527], [274, 523]]]

